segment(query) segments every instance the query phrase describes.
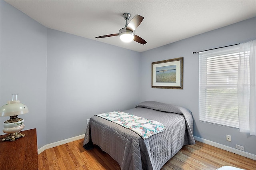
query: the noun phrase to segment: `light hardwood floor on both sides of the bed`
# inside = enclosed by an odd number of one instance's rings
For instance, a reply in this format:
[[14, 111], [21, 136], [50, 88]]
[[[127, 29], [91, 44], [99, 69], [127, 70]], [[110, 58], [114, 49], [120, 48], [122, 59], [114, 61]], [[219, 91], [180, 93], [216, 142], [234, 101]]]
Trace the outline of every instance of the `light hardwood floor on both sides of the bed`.
[[[100, 147], [83, 148], [83, 139], [45, 150], [38, 155], [39, 170], [120, 170]], [[256, 161], [196, 141], [185, 145], [161, 170], [215, 170], [221, 166], [256, 170]]]

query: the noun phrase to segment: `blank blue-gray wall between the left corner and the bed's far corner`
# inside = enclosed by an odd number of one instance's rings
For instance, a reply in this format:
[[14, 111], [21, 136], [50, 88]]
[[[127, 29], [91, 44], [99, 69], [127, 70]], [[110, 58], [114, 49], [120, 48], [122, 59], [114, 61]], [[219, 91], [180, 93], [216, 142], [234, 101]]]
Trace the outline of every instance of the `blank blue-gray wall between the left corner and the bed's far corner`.
[[47, 30], [47, 143], [85, 133], [86, 119], [139, 102], [140, 53]]

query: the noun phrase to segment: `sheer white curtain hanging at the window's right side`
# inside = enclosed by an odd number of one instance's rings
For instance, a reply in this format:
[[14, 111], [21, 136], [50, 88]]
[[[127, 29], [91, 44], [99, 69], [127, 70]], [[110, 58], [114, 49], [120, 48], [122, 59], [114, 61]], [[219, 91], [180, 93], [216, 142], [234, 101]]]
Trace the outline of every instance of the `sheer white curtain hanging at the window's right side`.
[[238, 116], [240, 132], [256, 135], [256, 40], [240, 43]]

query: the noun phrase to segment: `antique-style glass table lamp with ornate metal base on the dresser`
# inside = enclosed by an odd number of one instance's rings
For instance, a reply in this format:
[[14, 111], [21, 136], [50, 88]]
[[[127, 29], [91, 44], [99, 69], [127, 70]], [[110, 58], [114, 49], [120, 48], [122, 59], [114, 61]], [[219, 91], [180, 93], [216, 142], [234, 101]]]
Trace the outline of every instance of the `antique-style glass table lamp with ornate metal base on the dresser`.
[[0, 108], [0, 116], [10, 116], [8, 121], [4, 122], [3, 132], [9, 134], [4, 140], [14, 141], [16, 138], [24, 137], [25, 134], [21, 134], [19, 131], [22, 130], [24, 120], [18, 118], [18, 115], [28, 113], [28, 107], [18, 100], [18, 95], [12, 95], [12, 101], [8, 101], [6, 105]]

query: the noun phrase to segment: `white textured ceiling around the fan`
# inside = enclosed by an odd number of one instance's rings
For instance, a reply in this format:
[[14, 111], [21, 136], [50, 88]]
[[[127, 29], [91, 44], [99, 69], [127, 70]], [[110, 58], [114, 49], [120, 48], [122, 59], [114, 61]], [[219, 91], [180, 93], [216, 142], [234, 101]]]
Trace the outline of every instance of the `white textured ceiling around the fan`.
[[[134, 51], [146, 51], [256, 16], [256, 0], [5, 0], [47, 28]], [[135, 34], [146, 40], [124, 43], [118, 36], [124, 12], [144, 17]]]

